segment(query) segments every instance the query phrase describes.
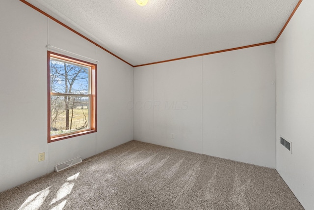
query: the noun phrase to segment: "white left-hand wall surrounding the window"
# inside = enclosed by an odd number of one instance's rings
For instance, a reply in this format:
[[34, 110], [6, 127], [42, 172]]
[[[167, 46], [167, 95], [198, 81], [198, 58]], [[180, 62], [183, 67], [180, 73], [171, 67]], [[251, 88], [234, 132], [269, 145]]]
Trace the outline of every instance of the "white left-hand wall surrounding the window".
[[[0, 191], [132, 140], [131, 66], [21, 1], [1, 1], [0, 27]], [[98, 132], [47, 143], [47, 44], [99, 60]]]

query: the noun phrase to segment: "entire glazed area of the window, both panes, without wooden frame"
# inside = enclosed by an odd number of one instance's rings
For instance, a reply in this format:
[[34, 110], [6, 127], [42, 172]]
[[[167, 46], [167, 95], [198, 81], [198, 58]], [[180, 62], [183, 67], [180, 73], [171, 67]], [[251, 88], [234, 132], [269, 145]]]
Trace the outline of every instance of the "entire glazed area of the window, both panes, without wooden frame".
[[90, 67], [50, 60], [51, 135], [89, 128]]

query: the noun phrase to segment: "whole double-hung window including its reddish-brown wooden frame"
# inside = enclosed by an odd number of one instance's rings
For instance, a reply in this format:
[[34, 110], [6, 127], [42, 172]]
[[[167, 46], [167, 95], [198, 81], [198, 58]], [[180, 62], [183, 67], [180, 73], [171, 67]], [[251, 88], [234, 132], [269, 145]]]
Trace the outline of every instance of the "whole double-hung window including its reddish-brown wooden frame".
[[48, 51], [48, 143], [97, 131], [96, 68]]

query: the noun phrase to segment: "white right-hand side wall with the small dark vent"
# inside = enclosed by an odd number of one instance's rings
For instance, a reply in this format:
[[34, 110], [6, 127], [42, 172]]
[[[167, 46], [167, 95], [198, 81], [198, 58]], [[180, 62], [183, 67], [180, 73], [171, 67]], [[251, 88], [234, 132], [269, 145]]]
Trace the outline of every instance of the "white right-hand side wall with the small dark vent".
[[[303, 0], [276, 42], [276, 169], [314, 209], [314, 1]], [[280, 145], [292, 142], [292, 154]]]

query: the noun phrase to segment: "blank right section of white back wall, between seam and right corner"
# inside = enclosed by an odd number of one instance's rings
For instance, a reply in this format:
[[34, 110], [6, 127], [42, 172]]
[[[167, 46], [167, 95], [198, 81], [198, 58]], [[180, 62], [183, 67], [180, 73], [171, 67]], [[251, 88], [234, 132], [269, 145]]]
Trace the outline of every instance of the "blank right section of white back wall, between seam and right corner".
[[203, 58], [203, 153], [275, 168], [275, 48]]

